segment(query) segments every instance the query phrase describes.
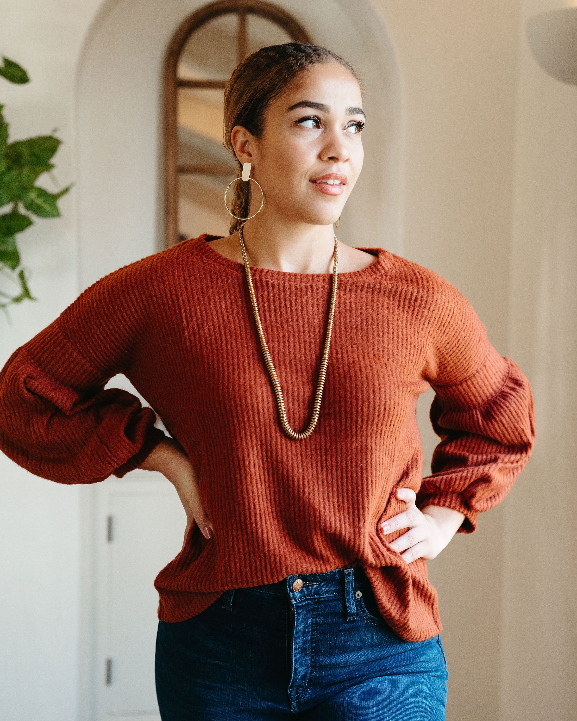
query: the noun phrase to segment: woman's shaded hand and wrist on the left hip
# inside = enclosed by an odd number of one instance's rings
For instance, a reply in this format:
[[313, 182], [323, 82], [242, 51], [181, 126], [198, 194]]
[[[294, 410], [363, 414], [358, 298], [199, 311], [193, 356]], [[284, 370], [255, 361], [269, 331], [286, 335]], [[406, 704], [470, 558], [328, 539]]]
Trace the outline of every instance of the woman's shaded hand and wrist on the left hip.
[[176, 488], [187, 521], [182, 548], [185, 547], [186, 536], [193, 521], [207, 539], [213, 536], [212, 521], [203, 508], [201, 494], [198, 492], [198, 475], [178, 441], [168, 437], [165, 441], [160, 441], [138, 467], [145, 471], [159, 471]]

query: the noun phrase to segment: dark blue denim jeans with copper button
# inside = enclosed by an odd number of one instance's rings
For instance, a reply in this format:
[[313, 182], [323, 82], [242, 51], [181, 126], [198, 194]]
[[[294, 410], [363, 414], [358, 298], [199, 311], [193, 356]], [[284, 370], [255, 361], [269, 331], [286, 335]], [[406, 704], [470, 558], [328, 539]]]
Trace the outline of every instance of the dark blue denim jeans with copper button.
[[227, 590], [187, 621], [160, 621], [162, 721], [443, 721], [440, 634], [402, 640], [360, 566]]

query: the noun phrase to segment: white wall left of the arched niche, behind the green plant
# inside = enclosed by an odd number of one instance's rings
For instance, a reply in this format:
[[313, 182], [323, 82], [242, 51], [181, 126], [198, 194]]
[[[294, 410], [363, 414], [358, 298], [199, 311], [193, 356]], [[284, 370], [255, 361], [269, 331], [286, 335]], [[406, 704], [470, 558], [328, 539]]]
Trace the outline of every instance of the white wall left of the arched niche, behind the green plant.
[[[0, 78], [10, 138], [58, 128], [61, 186], [77, 181], [76, 66], [98, 0], [0, 1], [0, 50], [26, 68], [31, 82]], [[45, 187], [52, 189], [50, 180]], [[19, 247], [38, 302], [0, 317], [0, 363], [50, 323], [79, 292], [76, 189], [62, 218], [38, 220]], [[0, 717], [72, 721], [78, 703], [80, 490], [32, 476], [0, 454]]]

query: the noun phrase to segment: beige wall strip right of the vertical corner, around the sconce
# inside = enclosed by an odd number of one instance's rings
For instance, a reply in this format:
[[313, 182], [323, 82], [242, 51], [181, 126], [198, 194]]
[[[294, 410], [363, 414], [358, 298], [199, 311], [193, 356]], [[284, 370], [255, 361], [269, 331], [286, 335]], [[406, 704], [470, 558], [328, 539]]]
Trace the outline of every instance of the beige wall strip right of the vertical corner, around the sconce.
[[[525, 2], [524, 17], [561, 4]], [[577, 86], [520, 48], [509, 348], [532, 380], [537, 444], [506, 506], [501, 717], [565, 720], [577, 718]]]

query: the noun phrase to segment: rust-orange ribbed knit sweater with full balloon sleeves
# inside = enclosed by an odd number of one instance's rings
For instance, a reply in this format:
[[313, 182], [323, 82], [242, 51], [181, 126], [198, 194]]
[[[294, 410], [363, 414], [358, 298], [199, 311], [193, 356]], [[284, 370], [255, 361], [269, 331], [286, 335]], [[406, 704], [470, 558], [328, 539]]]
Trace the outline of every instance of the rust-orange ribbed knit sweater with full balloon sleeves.
[[[529, 382], [490, 345], [457, 288], [382, 248], [339, 273], [320, 417], [282, 433], [245, 268], [203, 234], [125, 265], [87, 288], [0, 371], [0, 449], [59, 483], [123, 477], [164, 438], [157, 412], [199, 474], [215, 533], [193, 524], [159, 572], [159, 619], [178, 622], [228, 588], [358, 562], [402, 638], [441, 631], [427, 564], [407, 564], [380, 523], [418, 505], [477, 514], [503, 500], [534, 444]], [[289, 425], [312, 414], [332, 273], [252, 268]], [[151, 408], [121, 389], [124, 373]], [[432, 475], [415, 410], [430, 386], [441, 442]]]

